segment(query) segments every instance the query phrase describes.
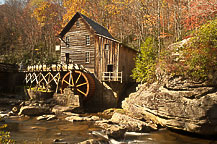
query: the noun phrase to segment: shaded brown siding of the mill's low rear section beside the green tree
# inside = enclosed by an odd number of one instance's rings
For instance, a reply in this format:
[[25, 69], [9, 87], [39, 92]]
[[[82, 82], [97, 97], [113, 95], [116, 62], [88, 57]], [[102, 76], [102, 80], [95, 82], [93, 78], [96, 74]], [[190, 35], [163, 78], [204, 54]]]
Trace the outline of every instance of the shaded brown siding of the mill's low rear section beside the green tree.
[[132, 81], [130, 75], [132, 70], [135, 67], [135, 58], [136, 51], [125, 47], [124, 45], [120, 46], [120, 59], [119, 59], [119, 71], [123, 72], [123, 81]]

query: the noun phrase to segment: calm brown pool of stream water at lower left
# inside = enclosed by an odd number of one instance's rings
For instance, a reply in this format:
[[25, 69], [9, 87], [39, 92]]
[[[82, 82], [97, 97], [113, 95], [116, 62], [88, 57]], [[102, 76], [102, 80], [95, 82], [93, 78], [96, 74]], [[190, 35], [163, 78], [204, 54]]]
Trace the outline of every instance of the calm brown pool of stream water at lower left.
[[6, 123], [7, 131], [11, 132], [11, 138], [18, 144], [49, 144], [55, 139], [77, 143], [94, 139], [89, 132], [99, 130], [92, 123], [72, 123], [65, 120], [37, 121], [35, 118], [10, 118]]

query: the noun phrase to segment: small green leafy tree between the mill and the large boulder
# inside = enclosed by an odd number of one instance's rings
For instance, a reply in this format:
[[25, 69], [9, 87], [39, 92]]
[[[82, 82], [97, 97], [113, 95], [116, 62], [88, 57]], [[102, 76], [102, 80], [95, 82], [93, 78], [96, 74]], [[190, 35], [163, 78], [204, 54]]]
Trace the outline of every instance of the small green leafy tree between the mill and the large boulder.
[[153, 82], [155, 80], [155, 68], [157, 60], [156, 42], [148, 37], [141, 44], [141, 52], [136, 58], [135, 68], [132, 77], [137, 82]]

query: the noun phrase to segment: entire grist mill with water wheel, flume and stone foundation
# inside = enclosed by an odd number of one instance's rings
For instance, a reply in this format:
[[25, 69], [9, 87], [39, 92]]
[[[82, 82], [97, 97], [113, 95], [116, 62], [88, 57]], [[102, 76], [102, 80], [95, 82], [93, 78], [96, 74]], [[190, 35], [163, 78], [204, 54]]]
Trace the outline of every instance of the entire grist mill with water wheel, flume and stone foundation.
[[61, 64], [27, 67], [29, 94], [44, 94], [40, 92], [43, 90], [55, 92], [53, 97], [65, 105], [77, 105], [79, 101], [93, 109], [117, 107], [131, 86], [137, 51], [81, 13], [73, 16], [59, 38]]

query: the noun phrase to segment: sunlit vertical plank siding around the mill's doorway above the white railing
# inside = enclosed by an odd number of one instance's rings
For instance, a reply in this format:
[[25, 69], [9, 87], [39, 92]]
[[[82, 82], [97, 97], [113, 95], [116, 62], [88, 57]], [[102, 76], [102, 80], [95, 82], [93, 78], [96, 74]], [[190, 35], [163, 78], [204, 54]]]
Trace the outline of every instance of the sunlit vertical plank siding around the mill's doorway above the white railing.
[[[118, 42], [102, 36], [96, 36], [95, 74], [101, 80], [102, 72], [107, 72], [107, 65], [113, 65], [113, 72], [118, 72]], [[106, 49], [106, 45], [108, 49]]]

